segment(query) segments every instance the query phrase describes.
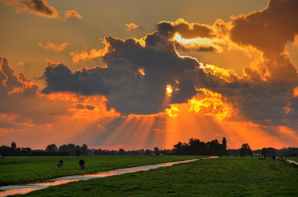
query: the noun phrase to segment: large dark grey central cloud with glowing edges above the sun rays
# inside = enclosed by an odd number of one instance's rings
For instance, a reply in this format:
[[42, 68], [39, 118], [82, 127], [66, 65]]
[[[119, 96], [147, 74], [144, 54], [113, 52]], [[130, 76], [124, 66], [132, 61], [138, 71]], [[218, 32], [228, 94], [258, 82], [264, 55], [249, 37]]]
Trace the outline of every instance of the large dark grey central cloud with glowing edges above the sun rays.
[[109, 36], [105, 42], [109, 46], [103, 56], [107, 68], [83, 68], [72, 73], [62, 63], [49, 62], [43, 76], [47, 86], [42, 92], [102, 94], [109, 101], [108, 107], [127, 115], [155, 114], [169, 108], [170, 103], [164, 103], [168, 84], [173, 87], [172, 103], [187, 102], [197, 93], [195, 86], [249, 86], [243, 81], [228, 83], [218, 75], [205, 73], [195, 59], [178, 56], [174, 41], [159, 32], [145, 37], [145, 47], [132, 38], [121, 40]]

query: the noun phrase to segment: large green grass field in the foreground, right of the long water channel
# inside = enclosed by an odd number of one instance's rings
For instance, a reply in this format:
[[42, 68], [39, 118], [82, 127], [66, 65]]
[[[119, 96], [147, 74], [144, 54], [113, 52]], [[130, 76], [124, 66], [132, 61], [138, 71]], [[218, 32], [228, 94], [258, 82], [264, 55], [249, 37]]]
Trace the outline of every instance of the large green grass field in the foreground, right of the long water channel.
[[297, 182], [297, 165], [229, 156], [50, 186], [25, 196], [298, 196]]

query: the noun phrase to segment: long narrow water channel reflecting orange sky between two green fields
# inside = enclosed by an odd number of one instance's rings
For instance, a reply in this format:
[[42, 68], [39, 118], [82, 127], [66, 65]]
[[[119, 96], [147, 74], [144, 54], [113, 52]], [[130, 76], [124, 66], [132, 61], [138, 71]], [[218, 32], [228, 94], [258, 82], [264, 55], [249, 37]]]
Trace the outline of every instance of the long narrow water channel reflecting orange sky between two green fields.
[[[216, 157], [208, 157], [208, 158], [216, 158]], [[208, 159], [208, 158], [201, 158], [201, 159]], [[146, 170], [155, 169], [155, 168], [159, 168], [159, 167], [172, 166], [174, 164], [187, 163], [187, 162], [197, 161], [197, 160], [200, 160], [200, 159], [191, 159], [191, 160], [185, 160], [185, 161], [159, 163], [159, 164], [154, 164], [154, 165], [137, 166], [137, 167], [132, 167], [132, 168], [122, 168], [122, 169], [102, 171], [102, 172], [96, 172], [96, 173], [90, 173], [90, 174], [64, 176], [64, 177], [60, 177], [60, 178], [56, 178], [56, 179], [26, 183], [26, 184], [21, 184], [21, 185], [2, 186], [2, 187], [0, 187], [0, 196], [8, 196], [8, 195], [14, 195], [14, 194], [25, 194], [25, 193], [29, 193], [34, 190], [44, 189], [46, 187], [49, 187], [50, 185], [60, 185], [60, 184], [65, 184], [65, 183], [69, 183], [69, 182], [73, 182], [73, 181], [102, 178], [102, 177], [106, 177], [106, 176], [113, 176], [113, 175], [119, 175], [119, 174], [125, 174], [125, 173], [130, 173], [130, 172], [137, 172], [137, 171], [146, 171]]]

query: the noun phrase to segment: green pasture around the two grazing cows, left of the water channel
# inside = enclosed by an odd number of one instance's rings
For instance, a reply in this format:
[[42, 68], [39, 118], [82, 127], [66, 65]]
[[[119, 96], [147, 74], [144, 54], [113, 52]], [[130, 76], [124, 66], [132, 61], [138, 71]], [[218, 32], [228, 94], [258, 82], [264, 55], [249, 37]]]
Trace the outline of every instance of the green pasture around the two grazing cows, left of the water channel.
[[[0, 159], [0, 186], [201, 157], [207, 156], [5, 157]], [[60, 159], [64, 160], [63, 168], [57, 166]], [[85, 170], [80, 170], [80, 159], [85, 160]]]

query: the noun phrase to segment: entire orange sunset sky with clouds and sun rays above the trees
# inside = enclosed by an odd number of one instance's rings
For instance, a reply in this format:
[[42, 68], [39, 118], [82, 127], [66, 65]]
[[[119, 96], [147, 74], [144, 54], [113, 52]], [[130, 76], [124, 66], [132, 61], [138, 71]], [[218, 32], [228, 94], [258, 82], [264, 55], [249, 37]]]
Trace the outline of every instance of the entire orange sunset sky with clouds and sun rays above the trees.
[[298, 1], [0, 0], [0, 145], [298, 147]]

